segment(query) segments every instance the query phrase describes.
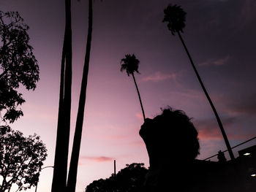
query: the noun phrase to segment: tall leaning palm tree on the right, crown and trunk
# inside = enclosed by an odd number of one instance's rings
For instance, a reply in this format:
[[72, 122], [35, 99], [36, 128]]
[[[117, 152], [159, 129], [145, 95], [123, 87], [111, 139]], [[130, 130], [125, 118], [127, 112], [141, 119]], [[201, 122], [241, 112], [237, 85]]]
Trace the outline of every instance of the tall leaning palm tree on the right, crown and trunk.
[[233, 151], [232, 151], [232, 149], [230, 147], [230, 143], [228, 142], [225, 130], [224, 130], [223, 126], [222, 126], [222, 121], [219, 118], [217, 110], [215, 109], [214, 104], [211, 101], [211, 98], [208, 95], [205, 86], [203, 85], [203, 82], [202, 82], [202, 80], [201, 80], [201, 78], [200, 78], [200, 76], [199, 76], [199, 74], [197, 72], [195, 64], [192, 61], [192, 58], [191, 58], [191, 56], [189, 54], [189, 50], [187, 50], [187, 46], [185, 45], [185, 42], [184, 42], [183, 38], [181, 37], [181, 33], [180, 32], [183, 32], [183, 28], [185, 27], [185, 21], [186, 21], [187, 13], [184, 12], [184, 10], [180, 6], [177, 6], [176, 4], [175, 5], [169, 4], [167, 6], [167, 8], [164, 10], [164, 13], [165, 13], [165, 17], [162, 20], [162, 22], [167, 22], [167, 27], [171, 31], [171, 33], [173, 35], [175, 35], [175, 33], [177, 33], [179, 39], [181, 39], [182, 45], [184, 46], [184, 49], [186, 50], [187, 55], [189, 57], [189, 61], [192, 64], [192, 67], [193, 67], [193, 69], [195, 71], [195, 74], [197, 75], [197, 79], [199, 80], [200, 85], [203, 88], [203, 92], [206, 94], [206, 97], [207, 97], [207, 99], [208, 99], [208, 101], [209, 101], [209, 103], [211, 105], [211, 108], [214, 111], [214, 115], [217, 118], [217, 122], [219, 124], [220, 130], [222, 131], [222, 136], [223, 136], [223, 138], [225, 140], [225, 144], [227, 145], [227, 150], [228, 150], [228, 152], [230, 154], [230, 158], [233, 160], [233, 159], [235, 159], [235, 157], [234, 157]]

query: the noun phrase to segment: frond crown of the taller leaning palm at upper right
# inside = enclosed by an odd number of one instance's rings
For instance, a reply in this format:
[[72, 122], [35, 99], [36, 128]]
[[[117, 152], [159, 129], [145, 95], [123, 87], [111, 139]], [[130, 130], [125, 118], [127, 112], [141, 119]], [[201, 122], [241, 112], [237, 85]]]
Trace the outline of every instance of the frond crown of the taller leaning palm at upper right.
[[162, 22], [167, 22], [167, 27], [174, 35], [175, 32], [181, 31], [183, 33], [183, 28], [185, 27], [187, 12], [180, 7], [169, 4], [166, 9], [164, 9], [165, 17]]

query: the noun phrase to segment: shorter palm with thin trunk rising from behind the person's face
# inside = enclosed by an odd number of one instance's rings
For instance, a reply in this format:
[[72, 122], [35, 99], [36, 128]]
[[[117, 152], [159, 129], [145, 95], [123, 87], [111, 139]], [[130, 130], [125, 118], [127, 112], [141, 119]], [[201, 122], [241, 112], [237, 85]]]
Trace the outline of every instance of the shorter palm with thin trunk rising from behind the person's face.
[[[132, 55], [127, 54], [127, 55], [125, 55], [125, 58], [121, 59], [121, 72], [123, 72], [125, 70], [127, 72], [128, 76], [129, 76], [129, 74], [132, 74], [132, 78], [135, 82], [136, 90], [138, 92], [138, 96], [140, 99], [140, 92], [139, 92], [138, 85], [136, 83], [135, 75], [134, 75], [134, 72], [137, 72], [138, 74], [140, 74], [140, 72], [138, 72], [139, 64], [140, 64], [140, 61], [135, 57], [134, 54], [132, 54]], [[141, 99], [140, 99], [140, 107], [142, 110], [143, 119], [145, 121], [146, 118], [145, 118], [145, 113], [143, 110], [143, 105], [142, 105]]]

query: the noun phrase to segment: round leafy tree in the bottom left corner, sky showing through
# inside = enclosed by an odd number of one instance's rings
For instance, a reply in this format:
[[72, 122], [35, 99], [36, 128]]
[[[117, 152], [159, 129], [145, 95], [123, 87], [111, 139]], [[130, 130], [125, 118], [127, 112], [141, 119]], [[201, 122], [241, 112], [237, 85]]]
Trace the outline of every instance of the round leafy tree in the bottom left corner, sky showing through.
[[37, 184], [47, 150], [39, 136], [24, 137], [20, 131], [0, 127], [0, 191], [17, 191]]

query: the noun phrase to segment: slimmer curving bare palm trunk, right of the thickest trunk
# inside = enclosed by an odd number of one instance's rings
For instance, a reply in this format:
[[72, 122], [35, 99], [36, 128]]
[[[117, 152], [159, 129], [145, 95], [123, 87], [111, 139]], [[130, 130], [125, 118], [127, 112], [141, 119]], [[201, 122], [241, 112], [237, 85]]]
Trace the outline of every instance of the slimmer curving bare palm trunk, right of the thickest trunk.
[[84, 108], [86, 104], [86, 88], [89, 72], [89, 61], [90, 61], [90, 52], [91, 52], [91, 34], [92, 34], [92, 0], [89, 0], [89, 26], [87, 34], [87, 43], [86, 43], [86, 56], [83, 66], [83, 78], [80, 89], [80, 98], [78, 106], [78, 116], [75, 125], [75, 135], [72, 146], [72, 155], [69, 166], [69, 176], [67, 180], [67, 191], [75, 192], [76, 178], [78, 172], [78, 160], [80, 153], [80, 143], [83, 131], [83, 116]]

